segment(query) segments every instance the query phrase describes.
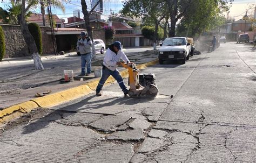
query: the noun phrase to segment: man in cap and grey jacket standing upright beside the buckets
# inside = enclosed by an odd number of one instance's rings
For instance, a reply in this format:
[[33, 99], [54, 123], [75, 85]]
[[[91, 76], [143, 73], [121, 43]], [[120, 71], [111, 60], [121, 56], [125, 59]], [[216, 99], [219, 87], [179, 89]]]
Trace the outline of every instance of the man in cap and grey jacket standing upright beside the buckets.
[[[88, 76], [91, 74], [92, 59], [92, 41], [87, 37], [87, 33], [81, 32], [81, 38], [77, 41], [77, 49], [81, 54], [81, 74], [79, 76]], [[87, 73], [85, 74], [85, 65]]]

